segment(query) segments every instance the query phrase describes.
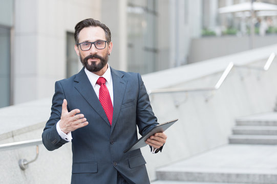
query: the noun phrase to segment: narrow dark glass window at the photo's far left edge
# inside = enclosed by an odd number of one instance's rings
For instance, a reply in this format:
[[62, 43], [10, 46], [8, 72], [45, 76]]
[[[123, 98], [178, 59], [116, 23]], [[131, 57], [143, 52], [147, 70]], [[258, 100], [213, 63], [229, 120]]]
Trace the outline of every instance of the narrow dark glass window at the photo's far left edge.
[[10, 29], [0, 26], [0, 107], [10, 105]]

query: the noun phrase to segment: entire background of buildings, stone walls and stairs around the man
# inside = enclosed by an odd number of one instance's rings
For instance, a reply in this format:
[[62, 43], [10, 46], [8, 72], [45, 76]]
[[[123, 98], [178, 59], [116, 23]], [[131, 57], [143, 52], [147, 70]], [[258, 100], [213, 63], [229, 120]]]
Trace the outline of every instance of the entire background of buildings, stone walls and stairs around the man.
[[55, 81], [82, 68], [86, 18], [110, 28], [110, 65], [142, 74], [159, 122], [179, 119], [162, 154], [142, 148], [153, 184], [276, 183], [277, 1], [0, 0], [3, 183], [70, 183], [71, 143], [49, 152], [40, 137]]

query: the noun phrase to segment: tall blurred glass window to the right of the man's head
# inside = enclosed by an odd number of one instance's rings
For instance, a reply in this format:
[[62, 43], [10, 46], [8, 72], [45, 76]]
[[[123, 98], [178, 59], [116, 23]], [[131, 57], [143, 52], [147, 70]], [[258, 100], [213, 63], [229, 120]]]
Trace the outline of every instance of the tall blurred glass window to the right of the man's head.
[[128, 71], [146, 74], [157, 71], [156, 1], [129, 1], [127, 11]]

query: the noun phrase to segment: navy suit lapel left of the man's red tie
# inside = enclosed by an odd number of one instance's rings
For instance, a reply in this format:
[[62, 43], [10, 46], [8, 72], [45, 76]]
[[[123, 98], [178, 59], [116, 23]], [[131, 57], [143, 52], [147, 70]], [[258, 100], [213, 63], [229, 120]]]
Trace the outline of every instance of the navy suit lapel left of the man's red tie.
[[76, 75], [74, 79], [75, 88], [79, 91], [84, 99], [90, 104], [90, 106], [99, 114], [99, 116], [109, 125], [109, 120], [106, 117], [105, 111], [97, 98], [95, 91], [90, 83], [90, 80], [84, 72], [84, 67]]

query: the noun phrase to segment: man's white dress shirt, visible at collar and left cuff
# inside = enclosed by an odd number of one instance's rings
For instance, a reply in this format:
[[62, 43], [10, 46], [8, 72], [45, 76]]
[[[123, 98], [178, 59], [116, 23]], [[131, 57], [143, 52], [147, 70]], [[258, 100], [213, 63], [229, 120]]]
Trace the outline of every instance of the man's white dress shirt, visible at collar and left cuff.
[[[114, 90], [113, 90], [113, 80], [112, 80], [112, 74], [111, 74], [111, 68], [110, 65], [108, 64], [108, 69], [106, 70], [106, 72], [102, 75], [102, 76], [98, 76], [90, 71], [87, 70], [87, 68], [84, 68], [84, 72], [86, 73], [86, 75], [89, 78], [89, 81], [91, 82], [91, 85], [96, 93], [97, 98], [99, 99], [99, 89], [100, 89], [100, 85], [96, 84], [97, 80], [99, 77], [103, 77], [106, 79], [106, 86], [109, 90], [109, 94], [112, 100], [112, 104], [114, 106]], [[82, 113], [82, 112], [80, 112]], [[86, 117], [85, 117], [86, 118]], [[71, 141], [72, 140], [72, 136], [71, 136], [71, 132], [68, 132], [67, 134], [64, 133], [63, 131], [61, 131], [60, 127], [59, 127], [59, 122], [56, 124], [56, 129], [58, 131], [59, 136], [66, 141]]]

